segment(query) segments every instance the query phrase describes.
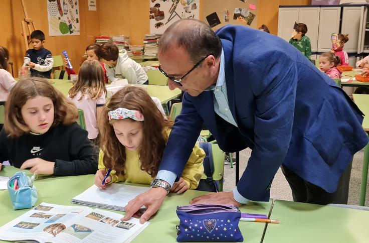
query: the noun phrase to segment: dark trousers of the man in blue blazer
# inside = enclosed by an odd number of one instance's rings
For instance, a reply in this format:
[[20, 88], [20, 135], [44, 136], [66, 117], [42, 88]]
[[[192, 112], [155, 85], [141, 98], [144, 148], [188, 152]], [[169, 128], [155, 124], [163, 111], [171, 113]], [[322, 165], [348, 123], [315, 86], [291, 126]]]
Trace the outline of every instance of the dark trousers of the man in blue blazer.
[[286, 166], [281, 165], [282, 172], [292, 189], [293, 200], [295, 202], [321, 205], [326, 205], [328, 203], [347, 204], [351, 167], [352, 161], [339, 178], [337, 190], [333, 193], [329, 193], [321, 187], [305, 181]]

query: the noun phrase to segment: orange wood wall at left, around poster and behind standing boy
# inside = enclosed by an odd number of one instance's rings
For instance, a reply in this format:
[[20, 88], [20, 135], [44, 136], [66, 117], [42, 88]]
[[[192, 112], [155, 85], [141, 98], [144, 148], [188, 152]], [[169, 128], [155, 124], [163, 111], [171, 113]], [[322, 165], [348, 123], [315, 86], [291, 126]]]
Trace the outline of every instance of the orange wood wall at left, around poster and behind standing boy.
[[[86, 46], [94, 43], [95, 36], [100, 35], [99, 11], [88, 11], [87, 2], [87, 0], [79, 0], [81, 35], [50, 37], [47, 1], [24, 0], [28, 16], [34, 21], [36, 29], [45, 33], [45, 48], [49, 49], [54, 56], [61, 55], [63, 50], [67, 50], [76, 71], [84, 61]], [[1, 0], [0, 5], [2, 10], [0, 45], [9, 49], [11, 61], [14, 63], [14, 76], [17, 77], [18, 68], [23, 65], [26, 52], [21, 26], [21, 20], [24, 19], [23, 8], [20, 0]]]

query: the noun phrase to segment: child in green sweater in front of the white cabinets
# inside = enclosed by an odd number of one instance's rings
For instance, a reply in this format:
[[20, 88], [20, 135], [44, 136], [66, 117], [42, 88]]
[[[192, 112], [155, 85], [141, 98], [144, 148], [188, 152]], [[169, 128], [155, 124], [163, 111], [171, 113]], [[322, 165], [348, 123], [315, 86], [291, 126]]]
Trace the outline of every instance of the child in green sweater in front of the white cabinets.
[[311, 43], [309, 37], [305, 36], [307, 26], [303, 23], [295, 23], [289, 43], [296, 47], [307, 59], [311, 59]]

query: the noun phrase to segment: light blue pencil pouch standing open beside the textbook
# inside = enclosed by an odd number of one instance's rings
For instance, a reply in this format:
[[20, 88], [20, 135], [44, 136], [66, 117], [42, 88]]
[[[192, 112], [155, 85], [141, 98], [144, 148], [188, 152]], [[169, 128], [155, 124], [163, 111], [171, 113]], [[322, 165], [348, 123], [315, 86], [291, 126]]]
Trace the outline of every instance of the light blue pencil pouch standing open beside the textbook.
[[[17, 180], [18, 189], [14, 188]], [[24, 172], [17, 172], [8, 181], [8, 192], [15, 210], [31, 208], [35, 206], [38, 195], [36, 187], [33, 185], [33, 179], [30, 179]], [[13, 187], [12, 187], [13, 185]]]

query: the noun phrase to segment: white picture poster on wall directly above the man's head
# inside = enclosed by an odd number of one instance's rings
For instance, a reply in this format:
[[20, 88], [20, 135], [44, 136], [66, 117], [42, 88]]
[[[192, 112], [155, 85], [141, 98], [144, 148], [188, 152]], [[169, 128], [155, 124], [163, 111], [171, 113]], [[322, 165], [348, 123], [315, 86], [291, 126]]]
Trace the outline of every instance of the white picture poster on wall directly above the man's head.
[[162, 34], [177, 20], [199, 19], [200, 0], [148, 0], [150, 33]]

